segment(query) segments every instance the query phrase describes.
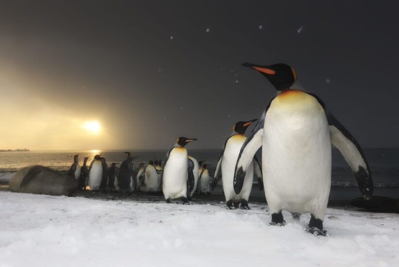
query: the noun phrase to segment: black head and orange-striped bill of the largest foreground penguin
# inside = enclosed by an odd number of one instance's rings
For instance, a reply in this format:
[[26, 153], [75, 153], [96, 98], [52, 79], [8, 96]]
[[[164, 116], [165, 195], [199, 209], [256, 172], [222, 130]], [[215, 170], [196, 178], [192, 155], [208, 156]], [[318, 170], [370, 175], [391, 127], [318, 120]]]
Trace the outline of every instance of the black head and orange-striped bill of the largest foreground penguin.
[[243, 63], [243, 66], [258, 70], [278, 91], [289, 89], [296, 82], [295, 69], [283, 63], [270, 66]]

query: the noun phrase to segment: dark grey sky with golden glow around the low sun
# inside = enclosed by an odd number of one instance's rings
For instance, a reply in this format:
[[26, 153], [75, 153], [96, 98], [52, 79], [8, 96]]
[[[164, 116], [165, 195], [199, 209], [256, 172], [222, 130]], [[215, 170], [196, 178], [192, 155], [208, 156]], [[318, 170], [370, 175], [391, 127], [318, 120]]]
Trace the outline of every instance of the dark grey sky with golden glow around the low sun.
[[[198, 138], [190, 148], [221, 148], [236, 121], [259, 118], [276, 94], [241, 64], [286, 63], [298, 73], [296, 87], [324, 100], [363, 147], [399, 147], [398, 8], [395, 1], [0, 1], [0, 93], [9, 104], [0, 112], [40, 108], [64, 124], [64, 115], [96, 119], [104, 131], [83, 143], [58, 133], [61, 126], [40, 132], [65, 146], [18, 140], [36, 149], [167, 149], [178, 136]], [[40, 115], [35, 123], [46, 119], [58, 121]], [[3, 140], [14, 135], [8, 131]]]

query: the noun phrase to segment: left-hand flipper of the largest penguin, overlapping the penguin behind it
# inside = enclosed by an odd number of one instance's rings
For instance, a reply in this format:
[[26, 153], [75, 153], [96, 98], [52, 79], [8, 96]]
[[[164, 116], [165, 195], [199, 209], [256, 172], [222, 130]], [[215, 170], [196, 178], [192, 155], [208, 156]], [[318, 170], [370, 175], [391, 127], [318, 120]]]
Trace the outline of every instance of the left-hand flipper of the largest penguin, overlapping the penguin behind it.
[[[270, 106], [270, 103], [269, 103]], [[234, 192], [239, 194], [243, 189], [244, 178], [248, 166], [251, 164], [252, 159], [255, 156], [256, 151], [260, 149], [263, 142], [263, 125], [266, 117], [266, 111], [269, 106], [264, 110], [262, 117], [258, 124], [248, 135], [243, 146], [241, 147], [240, 154], [238, 155], [236, 167], [234, 170]]]

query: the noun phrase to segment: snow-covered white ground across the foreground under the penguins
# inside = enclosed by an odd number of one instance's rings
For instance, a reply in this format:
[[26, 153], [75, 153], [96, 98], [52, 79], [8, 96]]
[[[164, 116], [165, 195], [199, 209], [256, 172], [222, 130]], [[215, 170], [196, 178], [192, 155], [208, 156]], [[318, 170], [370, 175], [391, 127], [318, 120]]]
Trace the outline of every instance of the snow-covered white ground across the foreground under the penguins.
[[267, 206], [94, 200], [0, 191], [0, 266], [399, 266], [399, 215], [328, 209], [268, 226]]

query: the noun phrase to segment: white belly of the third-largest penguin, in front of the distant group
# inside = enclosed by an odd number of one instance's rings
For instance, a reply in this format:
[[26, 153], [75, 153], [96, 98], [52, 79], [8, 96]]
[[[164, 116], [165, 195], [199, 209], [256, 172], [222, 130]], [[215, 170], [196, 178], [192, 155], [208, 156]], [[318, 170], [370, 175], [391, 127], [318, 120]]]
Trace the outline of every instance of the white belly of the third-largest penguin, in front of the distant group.
[[175, 148], [164, 166], [162, 191], [165, 199], [187, 197], [187, 150]]

